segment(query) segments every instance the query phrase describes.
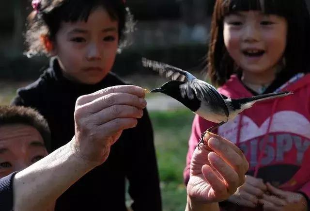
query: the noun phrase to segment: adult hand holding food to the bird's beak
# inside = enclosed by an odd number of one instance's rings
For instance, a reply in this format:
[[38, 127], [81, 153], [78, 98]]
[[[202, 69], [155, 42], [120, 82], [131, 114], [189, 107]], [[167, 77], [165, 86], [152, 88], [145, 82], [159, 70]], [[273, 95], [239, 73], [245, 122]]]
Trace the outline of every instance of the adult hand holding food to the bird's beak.
[[142, 117], [144, 96], [142, 88], [123, 85], [79, 97], [72, 144], [78, 157], [94, 165], [105, 162], [122, 131], [135, 127]]

